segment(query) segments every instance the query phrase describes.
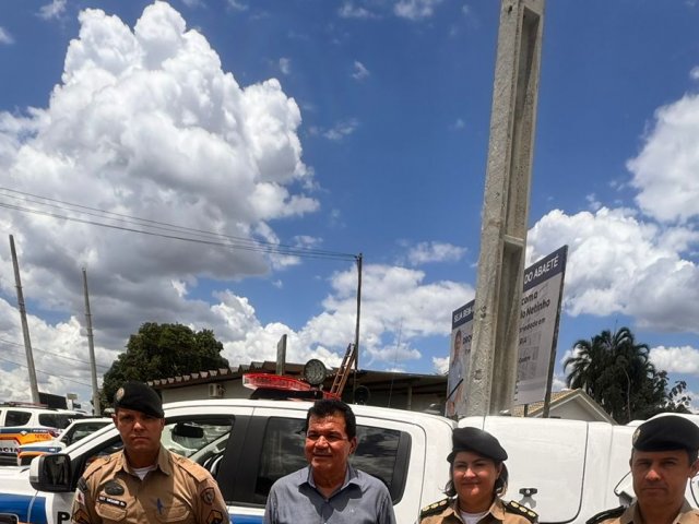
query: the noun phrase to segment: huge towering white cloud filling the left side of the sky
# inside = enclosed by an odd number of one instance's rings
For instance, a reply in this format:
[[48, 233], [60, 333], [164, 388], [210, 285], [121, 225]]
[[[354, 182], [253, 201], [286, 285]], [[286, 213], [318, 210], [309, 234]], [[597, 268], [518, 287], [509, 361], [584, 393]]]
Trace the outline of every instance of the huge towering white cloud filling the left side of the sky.
[[[202, 277], [230, 281], [298, 263], [214, 246], [274, 245], [272, 221], [318, 209], [305, 192], [312, 169], [301, 159], [296, 102], [274, 79], [239, 85], [166, 2], [145, 8], [133, 27], [97, 9], [79, 21], [48, 106], [0, 112], [0, 202], [25, 211], [4, 213], [0, 228], [14, 233], [25, 296], [60, 319], [49, 325], [32, 317], [33, 338], [86, 360], [82, 266], [100, 362], [111, 364], [145, 321], [222, 326], [222, 340], [240, 338], [222, 314], [235, 300], [217, 310], [190, 295]], [[5, 242], [0, 295], [13, 294]], [[11, 321], [3, 333], [21, 341], [9, 300], [0, 297], [0, 308]], [[47, 370], [90, 382], [86, 365], [57, 362]]]

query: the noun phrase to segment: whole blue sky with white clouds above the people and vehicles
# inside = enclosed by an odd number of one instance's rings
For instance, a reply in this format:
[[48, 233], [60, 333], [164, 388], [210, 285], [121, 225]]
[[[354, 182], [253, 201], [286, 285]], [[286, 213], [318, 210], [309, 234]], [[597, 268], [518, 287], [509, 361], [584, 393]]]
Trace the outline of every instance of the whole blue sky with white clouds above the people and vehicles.
[[[445, 372], [473, 298], [499, 2], [0, 3], [0, 398], [87, 400], [141, 323], [232, 365]], [[569, 246], [560, 362], [629, 326], [699, 405], [699, 2], [549, 1], [528, 262]]]

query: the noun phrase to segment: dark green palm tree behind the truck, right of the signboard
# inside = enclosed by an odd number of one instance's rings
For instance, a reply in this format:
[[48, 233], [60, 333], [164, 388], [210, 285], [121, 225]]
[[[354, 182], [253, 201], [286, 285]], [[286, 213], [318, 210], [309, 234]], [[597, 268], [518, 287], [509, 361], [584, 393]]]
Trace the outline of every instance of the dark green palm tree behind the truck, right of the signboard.
[[[648, 344], [636, 342], [628, 327], [603, 331], [591, 340], [580, 340], [564, 369], [569, 388], [581, 388], [617, 422], [647, 419], [657, 413], [689, 413], [687, 384], [671, 388], [667, 373], [655, 369]], [[670, 389], [668, 389], [670, 388]]]

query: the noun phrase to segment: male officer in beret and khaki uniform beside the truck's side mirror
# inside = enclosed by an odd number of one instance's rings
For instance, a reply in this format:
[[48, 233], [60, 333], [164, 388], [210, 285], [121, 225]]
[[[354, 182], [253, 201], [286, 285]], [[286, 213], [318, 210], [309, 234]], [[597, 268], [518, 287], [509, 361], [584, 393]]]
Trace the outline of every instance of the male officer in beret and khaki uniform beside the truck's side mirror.
[[78, 481], [78, 524], [227, 524], [226, 503], [211, 474], [161, 445], [165, 426], [157, 393], [142, 382], [117, 391], [114, 424], [123, 449], [95, 460]]

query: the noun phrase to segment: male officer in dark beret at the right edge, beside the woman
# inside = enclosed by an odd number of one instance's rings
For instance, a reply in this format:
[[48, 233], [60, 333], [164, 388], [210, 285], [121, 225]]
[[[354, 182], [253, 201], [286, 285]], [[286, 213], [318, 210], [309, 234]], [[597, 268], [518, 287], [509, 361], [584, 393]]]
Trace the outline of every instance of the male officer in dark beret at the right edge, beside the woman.
[[678, 415], [655, 417], [633, 432], [631, 477], [636, 502], [603, 511], [588, 524], [688, 524], [699, 511], [685, 499], [687, 480], [699, 471], [699, 427]]

